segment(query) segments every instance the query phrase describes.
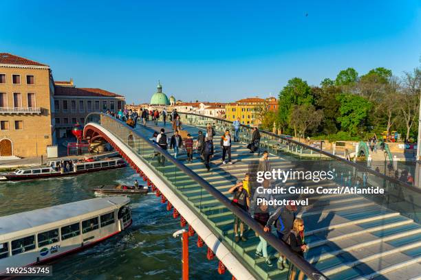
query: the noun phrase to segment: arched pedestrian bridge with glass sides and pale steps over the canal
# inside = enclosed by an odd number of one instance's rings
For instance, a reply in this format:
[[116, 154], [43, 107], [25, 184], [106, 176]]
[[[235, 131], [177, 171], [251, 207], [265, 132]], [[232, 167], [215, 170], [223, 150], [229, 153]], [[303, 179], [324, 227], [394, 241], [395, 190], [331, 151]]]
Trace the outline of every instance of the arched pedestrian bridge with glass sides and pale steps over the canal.
[[[197, 137], [198, 130], [213, 124], [217, 134], [232, 125], [228, 121], [191, 114], [180, 114], [183, 129]], [[240, 128], [240, 142], [233, 142], [233, 165], [222, 165], [219, 137], [215, 136], [215, 156], [210, 172], [185, 155], [177, 160], [154, 145], [149, 138], [162, 127], [130, 128], [114, 117], [91, 113], [86, 119], [85, 137], [101, 136], [125, 157], [131, 167], [159, 189], [162, 200], [170, 203], [195, 233], [229, 270], [235, 279], [288, 279], [291, 267], [277, 269], [276, 258], [287, 257], [309, 279], [421, 279], [421, 192], [414, 187], [367, 169], [356, 163], [291, 139], [261, 132], [261, 148], [270, 152], [270, 167], [282, 170], [332, 170], [334, 180], [288, 180], [285, 187], [325, 189], [380, 187], [384, 195], [302, 194], [281, 198], [308, 198], [310, 205], [299, 208], [305, 222], [305, 242], [310, 250], [305, 259], [292, 252], [274, 233], [265, 233], [254, 219], [230, 202], [228, 189], [250, 172], [257, 155], [250, 154], [246, 143], [251, 131]], [[166, 131], [171, 128], [167, 124]], [[156, 153], [165, 158], [158, 164]], [[171, 151], [169, 151], [171, 152]], [[252, 229], [246, 242], [235, 242], [234, 217]], [[255, 257], [259, 243], [256, 233], [268, 242], [272, 267]]]

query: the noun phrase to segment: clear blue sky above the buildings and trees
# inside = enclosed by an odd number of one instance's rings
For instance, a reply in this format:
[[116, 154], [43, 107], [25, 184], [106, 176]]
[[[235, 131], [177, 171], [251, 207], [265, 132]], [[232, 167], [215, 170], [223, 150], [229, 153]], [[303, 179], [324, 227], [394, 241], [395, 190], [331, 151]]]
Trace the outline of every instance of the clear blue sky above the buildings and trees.
[[[306, 16], [307, 14], [307, 16]], [[148, 102], [277, 96], [354, 67], [420, 65], [421, 1], [2, 1], [0, 52]]]

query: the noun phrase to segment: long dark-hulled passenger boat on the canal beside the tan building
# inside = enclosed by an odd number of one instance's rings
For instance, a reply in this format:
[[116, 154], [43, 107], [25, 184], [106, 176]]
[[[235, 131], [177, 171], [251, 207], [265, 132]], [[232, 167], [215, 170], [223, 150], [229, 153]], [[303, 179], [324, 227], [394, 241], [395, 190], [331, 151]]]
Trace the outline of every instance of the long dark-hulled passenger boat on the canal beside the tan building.
[[127, 164], [119, 157], [108, 159], [65, 159], [49, 161], [45, 165], [23, 167], [14, 172], [2, 174], [0, 180], [32, 180], [50, 177], [70, 176], [100, 170], [125, 167]]

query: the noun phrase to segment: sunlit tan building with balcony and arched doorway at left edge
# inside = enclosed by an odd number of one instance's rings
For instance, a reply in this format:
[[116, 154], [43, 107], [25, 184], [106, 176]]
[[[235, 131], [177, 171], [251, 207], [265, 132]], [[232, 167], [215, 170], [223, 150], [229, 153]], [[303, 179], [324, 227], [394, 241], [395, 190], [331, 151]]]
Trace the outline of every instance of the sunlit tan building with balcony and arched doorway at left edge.
[[0, 156], [40, 156], [55, 144], [48, 65], [0, 53]]

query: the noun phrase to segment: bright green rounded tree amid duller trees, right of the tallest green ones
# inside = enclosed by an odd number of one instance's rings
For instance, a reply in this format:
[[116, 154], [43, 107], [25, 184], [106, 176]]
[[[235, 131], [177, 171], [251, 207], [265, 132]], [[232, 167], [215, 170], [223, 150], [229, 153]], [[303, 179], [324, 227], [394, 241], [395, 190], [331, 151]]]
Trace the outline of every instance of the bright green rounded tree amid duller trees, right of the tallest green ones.
[[336, 98], [341, 103], [339, 107], [341, 116], [338, 117], [341, 128], [351, 132], [352, 135], [356, 135], [365, 124], [369, 110], [371, 110], [371, 102], [364, 97], [349, 93], [342, 93], [337, 95]]

